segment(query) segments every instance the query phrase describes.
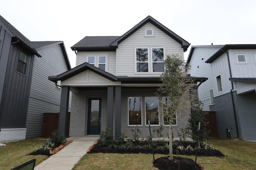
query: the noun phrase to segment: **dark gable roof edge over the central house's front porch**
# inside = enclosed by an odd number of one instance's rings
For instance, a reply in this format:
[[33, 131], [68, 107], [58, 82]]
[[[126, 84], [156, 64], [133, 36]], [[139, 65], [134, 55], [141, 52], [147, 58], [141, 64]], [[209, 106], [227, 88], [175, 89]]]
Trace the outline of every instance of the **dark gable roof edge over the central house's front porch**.
[[87, 62], [85, 62], [81, 65], [78, 65], [77, 67], [74, 67], [73, 69], [68, 70], [60, 75], [49, 76], [48, 79], [50, 81], [53, 81], [56, 83], [59, 80], [64, 81], [64, 80], [69, 79], [70, 77], [73, 77], [79, 73], [82, 73], [83, 71], [86, 71], [86, 70], [93, 71], [94, 73], [97, 73], [98, 75], [101, 75], [102, 77], [105, 77], [111, 81], [117, 81], [116, 76], [114, 76], [106, 71], [103, 71], [102, 69], [99, 69], [98, 67], [95, 67]]

